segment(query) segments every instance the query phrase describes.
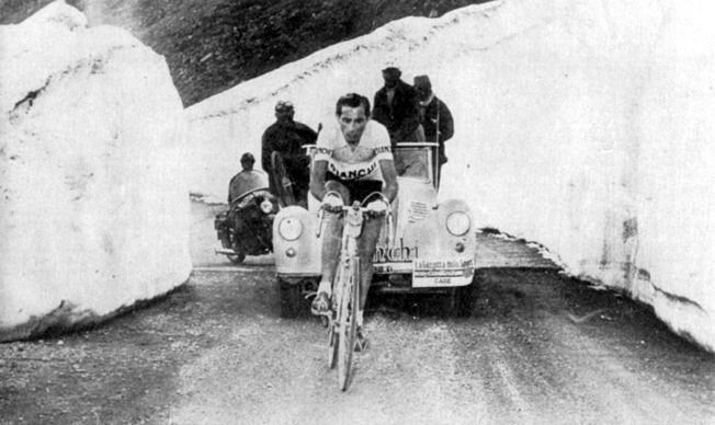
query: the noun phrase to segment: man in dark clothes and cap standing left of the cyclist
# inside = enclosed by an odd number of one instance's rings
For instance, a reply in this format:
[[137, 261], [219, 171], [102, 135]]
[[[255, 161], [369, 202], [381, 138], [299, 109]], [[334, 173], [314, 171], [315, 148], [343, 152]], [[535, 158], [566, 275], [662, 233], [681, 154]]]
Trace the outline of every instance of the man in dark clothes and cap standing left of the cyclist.
[[271, 169], [271, 154], [281, 153], [285, 172], [294, 185], [294, 195], [299, 203], [307, 205], [310, 187], [310, 160], [303, 147], [315, 145], [318, 134], [305, 124], [295, 122], [295, 108], [291, 102], [279, 102], [275, 105], [276, 122], [271, 124], [261, 139], [261, 164], [271, 176], [269, 184], [273, 187], [273, 171]]

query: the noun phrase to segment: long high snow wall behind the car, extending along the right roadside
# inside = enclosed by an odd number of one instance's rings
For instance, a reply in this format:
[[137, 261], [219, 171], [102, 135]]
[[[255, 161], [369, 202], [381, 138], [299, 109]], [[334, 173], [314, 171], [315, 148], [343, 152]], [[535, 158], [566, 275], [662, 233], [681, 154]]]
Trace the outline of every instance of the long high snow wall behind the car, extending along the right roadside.
[[427, 73], [455, 116], [442, 198], [537, 241], [715, 348], [715, 4], [496, 1], [409, 18], [188, 110], [191, 189], [223, 199], [279, 100], [316, 128], [381, 69]]

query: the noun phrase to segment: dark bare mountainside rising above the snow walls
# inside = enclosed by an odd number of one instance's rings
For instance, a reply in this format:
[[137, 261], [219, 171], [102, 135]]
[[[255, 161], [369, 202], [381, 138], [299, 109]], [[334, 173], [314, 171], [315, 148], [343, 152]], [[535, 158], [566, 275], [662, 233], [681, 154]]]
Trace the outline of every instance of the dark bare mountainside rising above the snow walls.
[[[488, 0], [67, 0], [91, 25], [129, 31], [167, 58], [184, 106], [406, 16]], [[0, 0], [16, 24], [52, 0]]]

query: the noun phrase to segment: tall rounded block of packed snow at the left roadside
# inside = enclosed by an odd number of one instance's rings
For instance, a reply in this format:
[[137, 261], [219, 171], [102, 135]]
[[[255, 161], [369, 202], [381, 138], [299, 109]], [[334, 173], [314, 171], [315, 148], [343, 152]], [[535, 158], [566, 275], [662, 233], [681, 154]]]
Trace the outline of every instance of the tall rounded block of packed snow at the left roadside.
[[0, 341], [184, 283], [184, 113], [163, 58], [63, 1], [0, 39]]

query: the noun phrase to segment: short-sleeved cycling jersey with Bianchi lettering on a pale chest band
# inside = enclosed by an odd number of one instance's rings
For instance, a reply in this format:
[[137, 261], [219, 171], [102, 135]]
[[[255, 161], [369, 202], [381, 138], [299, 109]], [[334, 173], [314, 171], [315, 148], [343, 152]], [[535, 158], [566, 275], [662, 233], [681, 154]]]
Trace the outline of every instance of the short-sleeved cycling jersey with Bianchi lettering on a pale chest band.
[[328, 173], [341, 181], [383, 181], [381, 160], [393, 160], [387, 128], [368, 120], [353, 150], [345, 141], [340, 125], [324, 128], [318, 135], [316, 161], [328, 161]]

